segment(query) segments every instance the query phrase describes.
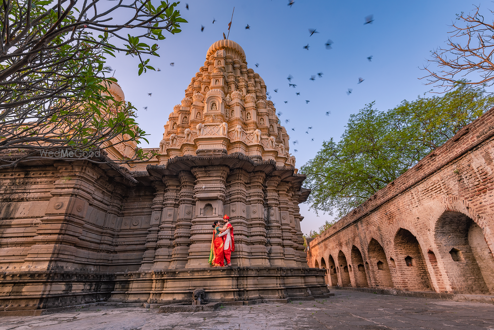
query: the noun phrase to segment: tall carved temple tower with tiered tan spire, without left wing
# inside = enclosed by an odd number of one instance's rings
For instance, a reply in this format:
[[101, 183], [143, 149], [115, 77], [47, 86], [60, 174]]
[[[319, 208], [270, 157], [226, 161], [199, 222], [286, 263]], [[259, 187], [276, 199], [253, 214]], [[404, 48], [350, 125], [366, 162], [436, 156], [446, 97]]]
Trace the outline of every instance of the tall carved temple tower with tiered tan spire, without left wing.
[[[126, 299], [166, 302], [179, 298], [166, 292], [178, 288], [188, 299], [191, 287], [206, 287], [212, 300], [327, 293], [320, 271], [307, 267], [298, 204], [310, 191], [301, 187], [305, 176], [297, 174], [288, 139], [242, 47], [213, 43], [165, 124], [159, 165], [147, 166], [164, 184], [164, 208], [156, 209], [161, 223], [149, 237], [158, 240], [140, 268], [150, 273], [125, 279]], [[235, 228], [233, 267], [210, 268], [211, 224], [223, 214]], [[143, 281], [157, 292], [132, 294]]]

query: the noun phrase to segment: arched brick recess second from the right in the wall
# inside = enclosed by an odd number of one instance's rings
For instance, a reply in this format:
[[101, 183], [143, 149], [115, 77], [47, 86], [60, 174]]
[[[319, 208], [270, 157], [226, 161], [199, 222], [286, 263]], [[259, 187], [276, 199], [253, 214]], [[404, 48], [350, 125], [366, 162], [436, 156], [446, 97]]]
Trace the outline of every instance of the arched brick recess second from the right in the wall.
[[396, 268], [402, 281], [396, 287], [410, 291], [432, 291], [429, 272], [417, 238], [400, 228], [394, 239]]

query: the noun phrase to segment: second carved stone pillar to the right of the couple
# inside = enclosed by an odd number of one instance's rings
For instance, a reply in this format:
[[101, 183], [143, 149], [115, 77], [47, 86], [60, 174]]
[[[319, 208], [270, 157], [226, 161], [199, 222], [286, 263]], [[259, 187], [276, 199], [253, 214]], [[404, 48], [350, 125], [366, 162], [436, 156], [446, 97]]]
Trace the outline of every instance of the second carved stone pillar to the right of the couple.
[[262, 186], [265, 179], [266, 173], [263, 171], [250, 173], [248, 178], [247, 204], [250, 212], [247, 218], [247, 236], [251, 266], [269, 266]]

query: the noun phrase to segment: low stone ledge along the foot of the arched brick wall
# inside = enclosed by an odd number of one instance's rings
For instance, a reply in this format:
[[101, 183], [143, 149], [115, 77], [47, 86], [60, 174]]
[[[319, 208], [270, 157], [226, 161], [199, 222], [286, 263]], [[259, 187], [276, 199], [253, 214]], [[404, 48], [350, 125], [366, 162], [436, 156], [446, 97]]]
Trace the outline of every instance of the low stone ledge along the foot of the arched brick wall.
[[385, 295], [398, 295], [403, 297], [416, 297], [438, 300], [453, 300], [453, 301], [471, 301], [483, 302], [486, 304], [494, 304], [494, 295], [484, 294], [461, 294], [461, 293], [445, 293], [445, 292], [428, 292], [428, 291], [404, 291], [398, 289], [382, 289], [382, 288], [352, 288], [352, 287], [331, 287], [334, 290], [347, 290]]

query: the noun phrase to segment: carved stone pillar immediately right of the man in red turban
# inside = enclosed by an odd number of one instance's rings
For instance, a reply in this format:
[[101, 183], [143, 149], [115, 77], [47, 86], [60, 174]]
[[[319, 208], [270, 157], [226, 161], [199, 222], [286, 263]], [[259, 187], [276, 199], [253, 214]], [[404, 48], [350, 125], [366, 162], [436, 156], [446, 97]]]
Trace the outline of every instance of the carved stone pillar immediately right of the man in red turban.
[[236, 168], [230, 172], [227, 179], [227, 203], [230, 206], [230, 214], [228, 215], [235, 235], [235, 252], [232, 253], [232, 265], [241, 267], [250, 265], [250, 250], [247, 245], [247, 218], [249, 211], [253, 209], [249, 209], [247, 206], [247, 178], [246, 170]]

